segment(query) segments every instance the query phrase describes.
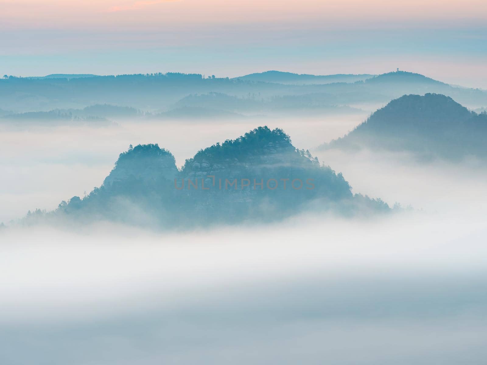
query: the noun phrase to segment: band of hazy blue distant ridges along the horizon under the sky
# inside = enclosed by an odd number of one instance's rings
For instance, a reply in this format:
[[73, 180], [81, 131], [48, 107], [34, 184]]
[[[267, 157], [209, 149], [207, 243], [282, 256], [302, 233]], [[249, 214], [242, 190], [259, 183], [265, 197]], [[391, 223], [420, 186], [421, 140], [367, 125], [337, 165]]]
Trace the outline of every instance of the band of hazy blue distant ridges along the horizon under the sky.
[[[287, 78], [314, 77], [314, 75], [296, 76], [292, 73], [284, 73], [284, 75]], [[109, 75], [71, 79], [8, 76], [0, 79], [0, 109], [16, 112], [48, 111], [82, 109], [93, 104], [111, 104], [130, 106], [144, 112], [158, 112], [169, 110], [188, 95], [209, 93], [226, 94], [240, 99], [255, 95], [260, 102], [264, 103], [272, 103], [279, 98], [291, 100], [301, 98], [303, 95], [314, 95], [313, 108], [318, 95], [322, 96], [321, 105], [353, 106], [385, 104], [401, 95], [425, 93], [450, 96], [471, 109], [487, 105], [487, 91], [452, 87], [426, 76], [408, 72], [386, 73], [365, 80], [332, 83], [267, 81], [203, 77], [201, 74], [183, 73]], [[307, 108], [305, 103], [302, 101], [300, 103]], [[282, 109], [284, 106], [285, 103], [279, 106], [280, 112], [285, 111]]]

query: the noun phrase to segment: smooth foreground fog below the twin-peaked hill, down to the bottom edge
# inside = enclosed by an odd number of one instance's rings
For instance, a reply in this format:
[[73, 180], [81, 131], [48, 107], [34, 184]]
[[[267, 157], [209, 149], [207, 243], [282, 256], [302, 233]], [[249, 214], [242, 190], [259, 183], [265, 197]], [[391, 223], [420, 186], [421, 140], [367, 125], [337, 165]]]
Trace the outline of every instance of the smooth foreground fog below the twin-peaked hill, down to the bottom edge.
[[480, 216], [85, 229], [2, 233], [6, 361], [481, 364], [486, 355]]

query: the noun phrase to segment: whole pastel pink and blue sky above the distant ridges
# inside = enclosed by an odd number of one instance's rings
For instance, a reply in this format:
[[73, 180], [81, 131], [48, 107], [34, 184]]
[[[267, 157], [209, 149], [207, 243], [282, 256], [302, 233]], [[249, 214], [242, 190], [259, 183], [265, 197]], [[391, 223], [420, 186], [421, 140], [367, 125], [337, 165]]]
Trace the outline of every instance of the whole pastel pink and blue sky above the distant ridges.
[[0, 1], [0, 73], [396, 68], [487, 89], [484, 0]]

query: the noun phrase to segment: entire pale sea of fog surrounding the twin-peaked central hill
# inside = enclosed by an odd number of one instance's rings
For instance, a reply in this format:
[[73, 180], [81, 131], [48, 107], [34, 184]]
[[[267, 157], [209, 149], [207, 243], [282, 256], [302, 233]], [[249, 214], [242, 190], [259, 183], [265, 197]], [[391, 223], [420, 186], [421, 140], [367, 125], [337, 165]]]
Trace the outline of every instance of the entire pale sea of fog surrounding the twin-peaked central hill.
[[[182, 165], [262, 124], [311, 149], [360, 121], [3, 130], [0, 221], [89, 193], [129, 144], [159, 143]], [[0, 364], [485, 364], [487, 172], [316, 155], [355, 193], [414, 210], [184, 233], [0, 230]]]

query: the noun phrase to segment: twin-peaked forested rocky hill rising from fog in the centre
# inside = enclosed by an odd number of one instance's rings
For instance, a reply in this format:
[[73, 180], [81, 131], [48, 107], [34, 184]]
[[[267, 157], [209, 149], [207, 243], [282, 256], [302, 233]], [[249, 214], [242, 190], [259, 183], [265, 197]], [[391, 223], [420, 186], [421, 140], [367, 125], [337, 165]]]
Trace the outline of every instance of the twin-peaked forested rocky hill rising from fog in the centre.
[[200, 150], [181, 169], [158, 145], [130, 146], [102, 186], [84, 199], [61, 202], [56, 211], [30, 214], [25, 222], [111, 220], [192, 228], [317, 211], [351, 215], [389, 207], [354, 196], [341, 173], [296, 149], [281, 129], [259, 127]]

